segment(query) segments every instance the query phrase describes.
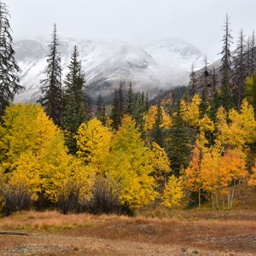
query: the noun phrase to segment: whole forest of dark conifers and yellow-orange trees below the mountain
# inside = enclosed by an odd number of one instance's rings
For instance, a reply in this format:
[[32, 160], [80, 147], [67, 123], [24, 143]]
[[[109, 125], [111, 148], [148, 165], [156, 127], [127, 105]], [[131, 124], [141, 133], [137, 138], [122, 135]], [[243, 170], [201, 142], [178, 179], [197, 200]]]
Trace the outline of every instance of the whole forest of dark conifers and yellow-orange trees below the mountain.
[[62, 75], [55, 25], [40, 99], [15, 104], [20, 68], [2, 1], [0, 25], [1, 214], [135, 215], [149, 206], [171, 217], [176, 209], [255, 208], [254, 33], [245, 40], [241, 31], [231, 52], [226, 16], [221, 67], [218, 76], [210, 71], [212, 81], [206, 61], [201, 71], [192, 67], [185, 90], [175, 87], [152, 101], [147, 91], [120, 81], [113, 104], [99, 96], [92, 106], [77, 47]]

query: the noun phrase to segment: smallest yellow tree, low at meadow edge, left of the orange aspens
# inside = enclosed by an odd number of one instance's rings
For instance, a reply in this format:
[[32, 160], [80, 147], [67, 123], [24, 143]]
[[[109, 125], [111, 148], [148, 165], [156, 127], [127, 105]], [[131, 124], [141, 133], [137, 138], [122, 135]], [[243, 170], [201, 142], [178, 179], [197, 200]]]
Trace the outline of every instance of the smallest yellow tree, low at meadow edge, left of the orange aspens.
[[172, 175], [169, 177], [164, 194], [161, 197], [162, 205], [167, 208], [177, 207], [180, 205], [183, 197], [183, 179]]

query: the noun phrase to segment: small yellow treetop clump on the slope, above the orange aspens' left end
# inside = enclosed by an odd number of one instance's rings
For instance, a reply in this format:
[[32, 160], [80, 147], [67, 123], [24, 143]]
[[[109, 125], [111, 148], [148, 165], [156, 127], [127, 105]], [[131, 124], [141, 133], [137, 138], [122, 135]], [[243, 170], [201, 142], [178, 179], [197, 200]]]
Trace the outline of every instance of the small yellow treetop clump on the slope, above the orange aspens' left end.
[[193, 96], [191, 102], [185, 102], [183, 100], [180, 102], [182, 118], [189, 127], [196, 128], [199, 125], [200, 103], [201, 99], [198, 94]]

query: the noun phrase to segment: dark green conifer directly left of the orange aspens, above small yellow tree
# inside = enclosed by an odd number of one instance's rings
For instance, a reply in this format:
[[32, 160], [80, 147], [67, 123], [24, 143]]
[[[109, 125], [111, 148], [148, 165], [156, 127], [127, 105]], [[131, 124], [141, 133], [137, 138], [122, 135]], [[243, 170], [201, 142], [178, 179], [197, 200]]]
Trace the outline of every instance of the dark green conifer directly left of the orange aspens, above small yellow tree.
[[176, 111], [172, 116], [172, 127], [166, 142], [166, 151], [171, 160], [171, 168], [179, 176], [180, 168], [186, 168], [189, 162], [190, 141], [183, 123], [180, 102], [177, 102]]

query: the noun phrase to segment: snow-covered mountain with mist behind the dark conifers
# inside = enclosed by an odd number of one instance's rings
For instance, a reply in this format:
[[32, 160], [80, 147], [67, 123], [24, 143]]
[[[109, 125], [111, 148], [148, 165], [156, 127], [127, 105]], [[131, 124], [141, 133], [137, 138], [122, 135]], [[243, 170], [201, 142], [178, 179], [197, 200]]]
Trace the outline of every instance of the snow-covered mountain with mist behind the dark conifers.
[[[34, 101], [39, 96], [39, 81], [44, 78], [48, 42], [44, 38], [19, 40], [15, 51], [21, 69], [20, 83], [26, 88], [16, 102]], [[160, 89], [187, 84], [192, 62], [202, 67], [203, 56], [195, 46], [182, 40], [165, 39], [143, 46], [124, 42], [61, 40], [63, 74], [74, 45], [79, 48], [90, 96], [108, 96], [119, 81], [133, 82], [135, 90], [154, 96]]]

